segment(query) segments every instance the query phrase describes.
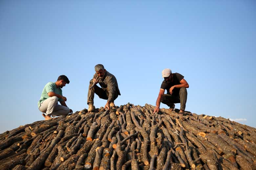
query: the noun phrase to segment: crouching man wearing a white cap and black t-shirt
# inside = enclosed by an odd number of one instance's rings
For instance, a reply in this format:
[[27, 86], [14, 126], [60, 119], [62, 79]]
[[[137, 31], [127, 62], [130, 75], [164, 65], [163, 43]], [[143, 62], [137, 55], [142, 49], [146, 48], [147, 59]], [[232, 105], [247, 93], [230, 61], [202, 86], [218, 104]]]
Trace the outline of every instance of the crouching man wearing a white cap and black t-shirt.
[[[162, 78], [164, 78], [160, 92], [158, 94], [155, 112], [159, 111], [160, 102], [166, 104], [173, 111], [175, 104], [181, 103], [180, 114], [183, 114], [187, 102], [187, 89], [189, 87], [187, 81], [179, 73], [172, 73], [171, 69], [164, 69], [162, 71]], [[167, 90], [167, 94], [164, 91]]]

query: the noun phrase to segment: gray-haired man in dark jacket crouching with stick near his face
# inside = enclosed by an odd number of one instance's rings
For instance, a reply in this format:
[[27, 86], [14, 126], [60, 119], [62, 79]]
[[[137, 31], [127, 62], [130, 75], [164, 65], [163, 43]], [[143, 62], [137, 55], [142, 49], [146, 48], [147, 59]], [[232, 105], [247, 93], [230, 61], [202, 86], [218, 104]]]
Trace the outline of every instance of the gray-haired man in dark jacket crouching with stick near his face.
[[[97, 64], [95, 67], [95, 74], [93, 79], [90, 80], [87, 104], [89, 105], [88, 111], [95, 110], [94, 106], [94, 93], [96, 93], [99, 98], [107, 100], [105, 109], [110, 110], [110, 107], [115, 107], [114, 100], [120, 94], [118, 89], [117, 79], [114, 75], [110, 74], [102, 64]], [[100, 87], [94, 83], [99, 83]]]

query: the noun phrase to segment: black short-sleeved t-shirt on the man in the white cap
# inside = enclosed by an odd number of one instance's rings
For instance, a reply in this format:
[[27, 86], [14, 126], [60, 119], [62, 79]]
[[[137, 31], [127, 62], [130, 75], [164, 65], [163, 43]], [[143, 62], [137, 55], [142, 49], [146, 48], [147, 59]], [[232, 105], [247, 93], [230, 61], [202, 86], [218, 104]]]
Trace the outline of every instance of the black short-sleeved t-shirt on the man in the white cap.
[[[173, 81], [165, 81], [163, 80], [161, 84], [161, 89], [167, 90], [167, 94], [170, 94], [170, 88], [174, 85], [181, 84], [180, 81], [184, 78], [179, 73], [173, 73]], [[172, 95], [179, 95], [180, 93], [180, 88], [174, 88], [172, 91]]]

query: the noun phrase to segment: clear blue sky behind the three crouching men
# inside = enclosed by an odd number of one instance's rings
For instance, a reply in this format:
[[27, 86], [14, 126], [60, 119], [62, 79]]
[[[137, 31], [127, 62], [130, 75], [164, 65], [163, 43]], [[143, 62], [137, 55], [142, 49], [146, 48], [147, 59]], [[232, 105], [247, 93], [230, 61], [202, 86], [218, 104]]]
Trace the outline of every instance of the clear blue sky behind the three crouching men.
[[155, 105], [170, 68], [189, 84], [186, 110], [255, 127], [255, 44], [254, 0], [2, 0], [0, 133], [43, 120], [37, 102], [59, 75], [68, 107], [88, 108], [98, 63], [117, 78], [118, 106]]

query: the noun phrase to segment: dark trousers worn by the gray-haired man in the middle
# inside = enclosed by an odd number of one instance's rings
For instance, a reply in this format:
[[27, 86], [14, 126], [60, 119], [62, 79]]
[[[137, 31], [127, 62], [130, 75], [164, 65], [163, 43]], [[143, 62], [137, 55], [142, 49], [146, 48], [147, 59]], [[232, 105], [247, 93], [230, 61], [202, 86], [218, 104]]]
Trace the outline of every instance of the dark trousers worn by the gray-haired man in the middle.
[[[107, 100], [108, 99], [108, 91], [107, 90], [103, 90], [102, 88], [98, 87], [97, 85], [95, 85], [91, 90], [90, 90], [90, 87], [92, 86], [93, 84], [90, 83], [89, 85], [89, 89], [88, 89], [88, 97], [87, 97], [87, 104], [89, 103], [92, 103], [94, 104], [94, 93], [96, 93], [99, 98], [101, 99], [105, 99]], [[118, 97], [118, 93], [117, 91], [115, 92], [115, 95], [114, 95], [114, 100], [116, 100]], [[114, 102], [114, 101], [113, 101]]]

